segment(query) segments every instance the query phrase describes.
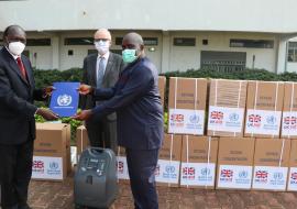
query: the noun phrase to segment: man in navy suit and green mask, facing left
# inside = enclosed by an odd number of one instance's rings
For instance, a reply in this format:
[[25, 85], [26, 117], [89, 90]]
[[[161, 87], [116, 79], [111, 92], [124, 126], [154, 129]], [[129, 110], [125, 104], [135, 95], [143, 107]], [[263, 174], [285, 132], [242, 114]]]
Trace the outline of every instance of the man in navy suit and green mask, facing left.
[[141, 35], [127, 34], [122, 48], [122, 58], [128, 66], [113, 88], [79, 87], [80, 94], [91, 94], [95, 99], [109, 100], [74, 118], [92, 121], [117, 112], [118, 140], [125, 147], [134, 206], [136, 209], [156, 209], [158, 202], [154, 170], [163, 142], [158, 73], [144, 55]]

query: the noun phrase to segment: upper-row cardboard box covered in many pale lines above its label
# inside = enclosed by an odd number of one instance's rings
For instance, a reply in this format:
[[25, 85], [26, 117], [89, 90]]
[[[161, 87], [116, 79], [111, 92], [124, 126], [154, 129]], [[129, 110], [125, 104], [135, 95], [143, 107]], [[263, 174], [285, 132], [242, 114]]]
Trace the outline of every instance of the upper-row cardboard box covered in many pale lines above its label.
[[210, 80], [208, 135], [243, 136], [246, 87], [245, 80]]

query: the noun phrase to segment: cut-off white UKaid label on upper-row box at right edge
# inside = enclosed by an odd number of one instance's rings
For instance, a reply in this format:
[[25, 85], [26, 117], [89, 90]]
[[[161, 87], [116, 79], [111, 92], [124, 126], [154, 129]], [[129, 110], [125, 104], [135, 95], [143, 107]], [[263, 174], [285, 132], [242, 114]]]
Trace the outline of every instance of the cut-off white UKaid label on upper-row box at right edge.
[[283, 112], [282, 135], [297, 135], [297, 112]]

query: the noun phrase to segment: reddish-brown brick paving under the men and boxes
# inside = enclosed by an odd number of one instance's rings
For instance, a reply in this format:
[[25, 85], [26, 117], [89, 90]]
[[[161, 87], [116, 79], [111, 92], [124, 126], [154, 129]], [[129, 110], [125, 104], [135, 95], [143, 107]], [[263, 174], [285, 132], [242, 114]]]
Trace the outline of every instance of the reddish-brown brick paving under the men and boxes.
[[[158, 187], [160, 209], [297, 209], [297, 193], [204, 190]], [[73, 178], [64, 183], [31, 182], [33, 209], [73, 209]], [[120, 195], [111, 209], [130, 209], [130, 186], [120, 184]]]

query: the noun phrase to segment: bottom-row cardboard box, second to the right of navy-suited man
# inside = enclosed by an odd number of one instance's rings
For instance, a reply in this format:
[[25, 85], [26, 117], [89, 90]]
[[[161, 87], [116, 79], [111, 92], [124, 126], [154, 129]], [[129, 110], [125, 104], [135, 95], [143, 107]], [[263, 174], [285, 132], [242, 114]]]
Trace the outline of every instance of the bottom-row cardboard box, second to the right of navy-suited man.
[[218, 139], [183, 135], [182, 187], [215, 188]]

